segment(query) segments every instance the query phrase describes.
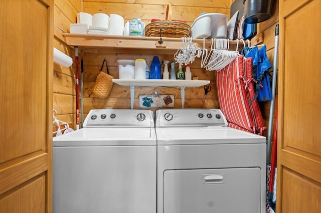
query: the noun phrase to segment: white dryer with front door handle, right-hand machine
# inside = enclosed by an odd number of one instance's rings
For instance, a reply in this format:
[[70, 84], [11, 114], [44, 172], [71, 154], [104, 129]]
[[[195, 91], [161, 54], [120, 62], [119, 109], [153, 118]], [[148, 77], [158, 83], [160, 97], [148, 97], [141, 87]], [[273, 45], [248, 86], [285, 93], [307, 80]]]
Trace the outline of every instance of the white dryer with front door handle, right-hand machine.
[[263, 213], [266, 138], [219, 109], [156, 111], [157, 213]]

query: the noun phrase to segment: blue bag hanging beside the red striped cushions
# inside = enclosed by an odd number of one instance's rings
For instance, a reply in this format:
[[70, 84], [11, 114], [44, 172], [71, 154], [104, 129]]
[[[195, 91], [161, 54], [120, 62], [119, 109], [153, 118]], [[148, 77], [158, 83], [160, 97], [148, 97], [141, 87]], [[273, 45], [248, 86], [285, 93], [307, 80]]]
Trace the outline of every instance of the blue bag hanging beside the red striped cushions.
[[272, 100], [272, 91], [270, 83], [270, 75], [268, 70], [272, 67], [269, 58], [266, 55], [266, 46], [260, 49], [254, 46], [245, 57], [252, 57], [253, 79], [255, 82], [255, 96], [249, 102], [257, 98], [258, 101]]

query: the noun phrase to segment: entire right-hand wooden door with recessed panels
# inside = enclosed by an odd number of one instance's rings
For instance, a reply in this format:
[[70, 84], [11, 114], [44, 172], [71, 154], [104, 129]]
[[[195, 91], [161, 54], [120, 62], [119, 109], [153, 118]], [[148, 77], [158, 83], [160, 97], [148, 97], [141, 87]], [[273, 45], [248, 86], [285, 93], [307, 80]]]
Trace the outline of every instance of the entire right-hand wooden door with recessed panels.
[[320, 0], [279, 1], [276, 212], [320, 211]]

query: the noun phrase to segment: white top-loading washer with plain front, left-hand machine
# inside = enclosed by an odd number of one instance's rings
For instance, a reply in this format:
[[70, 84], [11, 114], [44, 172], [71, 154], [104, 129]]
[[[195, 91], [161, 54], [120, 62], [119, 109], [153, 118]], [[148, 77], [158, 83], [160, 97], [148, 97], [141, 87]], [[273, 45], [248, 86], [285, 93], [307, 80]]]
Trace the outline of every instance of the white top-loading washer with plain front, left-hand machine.
[[90, 110], [83, 126], [53, 139], [53, 212], [156, 212], [153, 112]]

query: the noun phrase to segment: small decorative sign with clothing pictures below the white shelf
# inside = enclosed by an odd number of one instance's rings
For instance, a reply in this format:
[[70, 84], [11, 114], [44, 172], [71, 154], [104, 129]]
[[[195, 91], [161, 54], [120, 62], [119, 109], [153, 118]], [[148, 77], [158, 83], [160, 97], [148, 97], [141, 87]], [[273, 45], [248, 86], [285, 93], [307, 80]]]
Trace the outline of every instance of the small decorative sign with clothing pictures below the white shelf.
[[155, 92], [154, 95], [139, 95], [140, 108], [169, 108], [174, 107], [174, 95], [163, 95]]

